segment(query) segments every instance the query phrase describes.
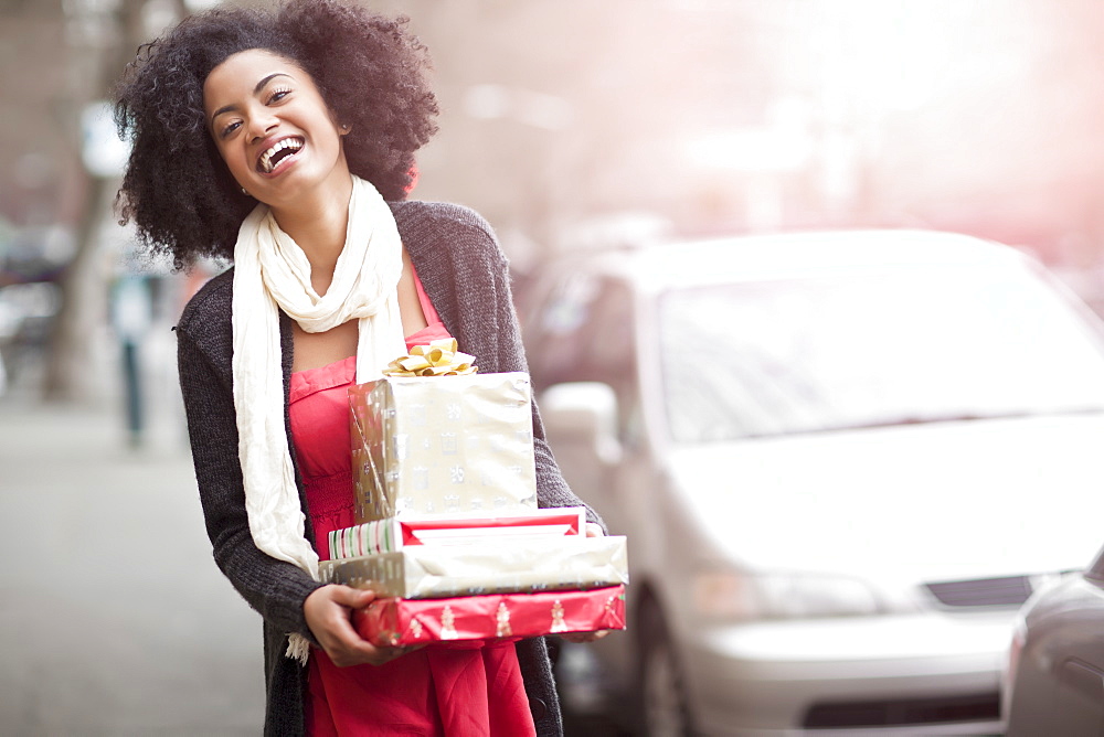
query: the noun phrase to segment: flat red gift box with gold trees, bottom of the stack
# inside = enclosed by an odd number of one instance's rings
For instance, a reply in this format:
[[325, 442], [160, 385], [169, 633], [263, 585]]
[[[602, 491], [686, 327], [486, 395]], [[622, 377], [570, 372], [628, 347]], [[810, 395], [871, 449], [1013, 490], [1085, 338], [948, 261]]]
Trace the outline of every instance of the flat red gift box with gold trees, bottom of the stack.
[[376, 599], [353, 612], [378, 647], [625, 629], [625, 587], [447, 599]]

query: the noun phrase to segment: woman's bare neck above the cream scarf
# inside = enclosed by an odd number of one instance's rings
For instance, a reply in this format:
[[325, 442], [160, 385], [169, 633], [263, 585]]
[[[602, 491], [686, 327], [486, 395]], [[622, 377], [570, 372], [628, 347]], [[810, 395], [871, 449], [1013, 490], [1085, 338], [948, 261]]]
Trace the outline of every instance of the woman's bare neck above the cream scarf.
[[300, 199], [295, 205], [274, 206], [273, 216], [310, 261], [310, 281], [319, 295], [325, 295], [333, 279], [333, 268], [344, 248], [349, 226], [349, 199], [352, 179], [332, 188], [322, 188], [314, 196]]

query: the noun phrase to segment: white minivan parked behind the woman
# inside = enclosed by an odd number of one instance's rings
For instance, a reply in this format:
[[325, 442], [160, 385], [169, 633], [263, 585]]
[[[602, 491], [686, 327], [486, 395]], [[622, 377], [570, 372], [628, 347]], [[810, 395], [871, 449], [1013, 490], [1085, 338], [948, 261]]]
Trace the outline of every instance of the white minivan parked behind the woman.
[[552, 450], [629, 541], [628, 631], [564, 643], [569, 708], [633, 696], [616, 714], [665, 736], [1000, 730], [1017, 608], [1104, 519], [1083, 303], [928, 232], [539, 274], [519, 313]]

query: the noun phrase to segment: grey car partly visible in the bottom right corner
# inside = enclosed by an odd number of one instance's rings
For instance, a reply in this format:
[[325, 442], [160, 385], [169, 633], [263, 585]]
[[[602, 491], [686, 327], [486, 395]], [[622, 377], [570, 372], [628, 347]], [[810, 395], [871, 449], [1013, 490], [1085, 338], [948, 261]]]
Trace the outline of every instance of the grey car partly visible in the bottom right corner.
[[1104, 734], [1104, 551], [1023, 605], [1002, 685], [1008, 737]]

